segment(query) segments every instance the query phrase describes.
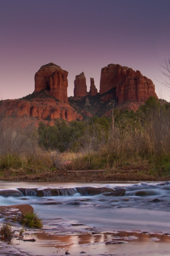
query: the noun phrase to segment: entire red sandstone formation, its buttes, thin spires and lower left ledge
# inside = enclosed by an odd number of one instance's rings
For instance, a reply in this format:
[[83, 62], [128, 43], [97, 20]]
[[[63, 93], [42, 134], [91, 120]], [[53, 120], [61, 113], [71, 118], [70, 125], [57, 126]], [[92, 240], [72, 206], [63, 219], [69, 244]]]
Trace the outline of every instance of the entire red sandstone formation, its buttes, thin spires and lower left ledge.
[[[101, 69], [99, 93], [93, 78], [90, 78], [90, 90], [87, 92], [84, 73], [82, 72], [75, 77], [74, 97], [70, 97], [75, 102], [75, 110], [68, 103], [67, 76], [68, 72], [54, 63], [43, 65], [35, 73], [35, 90], [31, 95], [22, 99], [0, 102], [1, 119], [3, 117], [13, 120], [20, 118], [23, 119], [23, 123], [31, 120], [36, 126], [40, 121], [53, 125], [55, 119], [59, 118], [70, 122], [77, 119], [82, 120], [81, 113], [92, 116], [92, 113], [95, 113], [93, 108], [96, 108], [96, 106], [92, 106], [88, 96], [98, 96], [100, 102], [109, 102], [114, 99], [117, 106], [124, 105], [126, 108], [133, 110], [144, 104], [150, 96], [158, 98], [153, 82], [143, 76], [140, 71], [134, 71], [119, 64], [109, 64]], [[81, 106], [81, 111], [79, 111], [76, 102], [79, 102], [82, 97], [85, 97], [86, 100], [84, 106]], [[89, 110], [86, 111], [88, 105], [92, 109], [91, 113], [89, 113]], [[82, 107], [84, 107], [83, 111]]]

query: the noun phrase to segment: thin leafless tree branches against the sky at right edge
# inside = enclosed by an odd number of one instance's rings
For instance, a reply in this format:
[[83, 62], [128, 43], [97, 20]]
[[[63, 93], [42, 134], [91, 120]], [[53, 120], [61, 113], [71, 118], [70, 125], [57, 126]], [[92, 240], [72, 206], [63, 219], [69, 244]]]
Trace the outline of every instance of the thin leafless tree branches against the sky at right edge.
[[164, 76], [163, 78], [161, 77], [160, 83], [170, 89], [170, 58], [161, 61], [159, 67], [161, 67], [160, 70]]

